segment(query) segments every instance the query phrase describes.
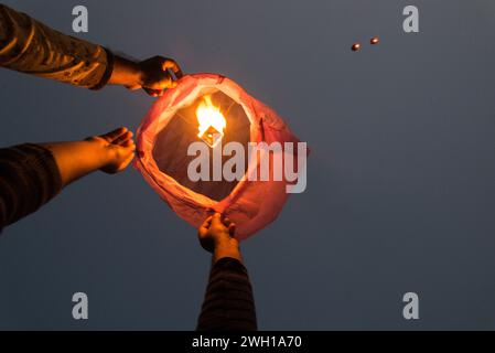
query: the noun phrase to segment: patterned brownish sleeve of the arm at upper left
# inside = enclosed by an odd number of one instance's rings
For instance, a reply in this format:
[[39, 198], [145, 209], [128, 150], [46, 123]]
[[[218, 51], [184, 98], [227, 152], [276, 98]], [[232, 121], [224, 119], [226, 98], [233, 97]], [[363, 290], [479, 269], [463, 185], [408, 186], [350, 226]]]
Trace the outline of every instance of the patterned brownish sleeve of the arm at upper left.
[[114, 56], [0, 3], [0, 66], [90, 89], [107, 84]]

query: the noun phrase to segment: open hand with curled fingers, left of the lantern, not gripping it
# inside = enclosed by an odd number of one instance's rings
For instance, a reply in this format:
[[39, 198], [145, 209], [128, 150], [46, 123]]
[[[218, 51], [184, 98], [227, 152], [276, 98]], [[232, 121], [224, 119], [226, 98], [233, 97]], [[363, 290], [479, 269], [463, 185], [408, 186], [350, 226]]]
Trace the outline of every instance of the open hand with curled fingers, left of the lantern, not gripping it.
[[101, 171], [108, 174], [118, 173], [127, 168], [134, 157], [136, 145], [132, 132], [119, 128], [101, 136], [86, 139], [100, 150]]

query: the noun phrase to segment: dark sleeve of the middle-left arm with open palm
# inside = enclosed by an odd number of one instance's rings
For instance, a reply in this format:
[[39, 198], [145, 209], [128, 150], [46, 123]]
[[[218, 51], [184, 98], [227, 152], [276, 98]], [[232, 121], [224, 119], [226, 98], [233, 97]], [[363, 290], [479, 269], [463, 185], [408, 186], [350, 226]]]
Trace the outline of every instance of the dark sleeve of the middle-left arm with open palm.
[[37, 145], [0, 149], [0, 229], [40, 208], [61, 189], [50, 150]]

